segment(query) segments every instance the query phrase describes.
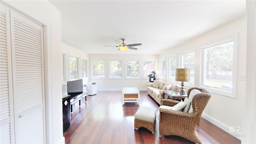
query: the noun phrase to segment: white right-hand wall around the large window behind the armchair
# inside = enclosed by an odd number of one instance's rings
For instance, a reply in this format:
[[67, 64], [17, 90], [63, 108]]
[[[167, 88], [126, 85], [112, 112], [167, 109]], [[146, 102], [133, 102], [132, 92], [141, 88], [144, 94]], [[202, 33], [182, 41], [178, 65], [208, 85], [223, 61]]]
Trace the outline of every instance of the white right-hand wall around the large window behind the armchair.
[[[233, 22], [220, 26], [201, 36], [198, 36], [182, 45], [176, 46], [173, 49], [167, 50], [160, 54], [160, 58], [185, 52], [195, 51], [196, 57], [196, 73], [200, 72], [200, 51], [201, 46], [211, 44], [217, 40], [238, 34], [238, 59], [237, 59], [237, 78], [236, 78], [236, 98], [216, 94], [212, 92], [204, 113], [202, 116], [210, 122], [216, 124], [220, 128], [228, 132], [228, 126], [242, 126], [242, 115], [245, 107], [245, 88], [246, 81], [240, 80], [239, 76], [246, 74], [246, 28], [247, 16], [243, 16]], [[198, 76], [198, 77], [196, 77]], [[200, 86], [200, 74], [195, 75], [195, 85]], [[190, 88], [188, 84], [186, 88]], [[211, 91], [211, 90], [210, 90]], [[240, 132], [244, 132], [242, 129]]]

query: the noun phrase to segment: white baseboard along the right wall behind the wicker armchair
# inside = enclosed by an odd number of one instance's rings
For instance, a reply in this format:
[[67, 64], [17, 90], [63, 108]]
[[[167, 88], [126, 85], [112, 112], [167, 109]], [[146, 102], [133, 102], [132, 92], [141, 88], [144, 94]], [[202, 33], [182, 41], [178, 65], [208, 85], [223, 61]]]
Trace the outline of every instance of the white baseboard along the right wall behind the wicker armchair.
[[215, 126], [218, 126], [219, 128], [221, 128], [222, 130], [228, 133], [228, 134], [223, 134], [223, 137], [227, 137], [227, 138], [236, 137], [239, 140], [241, 140], [242, 137], [244, 137], [244, 134], [242, 134], [241, 132], [230, 132], [229, 126], [227, 126], [226, 124], [223, 124], [222, 122], [216, 120], [215, 118], [212, 118], [211, 116], [205, 113], [202, 113], [201, 116], [206, 120], [208, 120], [209, 122], [211, 122], [212, 124], [214, 124]]

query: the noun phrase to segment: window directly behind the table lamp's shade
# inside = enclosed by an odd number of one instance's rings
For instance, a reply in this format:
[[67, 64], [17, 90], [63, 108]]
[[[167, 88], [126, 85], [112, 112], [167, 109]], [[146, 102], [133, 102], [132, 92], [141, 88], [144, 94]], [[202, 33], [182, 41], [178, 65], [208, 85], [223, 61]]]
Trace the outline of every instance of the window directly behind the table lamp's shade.
[[181, 55], [181, 68], [190, 68], [190, 82], [194, 83], [195, 52]]

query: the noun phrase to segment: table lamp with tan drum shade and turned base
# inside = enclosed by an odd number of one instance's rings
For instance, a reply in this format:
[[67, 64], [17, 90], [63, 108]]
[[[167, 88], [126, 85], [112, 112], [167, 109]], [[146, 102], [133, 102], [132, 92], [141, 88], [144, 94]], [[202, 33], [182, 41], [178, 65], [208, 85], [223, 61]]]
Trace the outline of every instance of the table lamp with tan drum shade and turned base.
[[184, 82], [190, 81], [190, 68], [176, 68], [175, 80], [181, 82], [180, 95], [184, 95]]

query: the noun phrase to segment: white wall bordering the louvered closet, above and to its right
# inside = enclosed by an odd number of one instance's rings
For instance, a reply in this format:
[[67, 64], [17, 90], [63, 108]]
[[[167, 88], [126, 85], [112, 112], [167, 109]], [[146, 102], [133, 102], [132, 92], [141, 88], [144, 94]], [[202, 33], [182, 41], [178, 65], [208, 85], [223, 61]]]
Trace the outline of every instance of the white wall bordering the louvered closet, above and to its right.
[[46, 83], [46, 142], [64, 144], [62, 126], [61, 87], [61, 18], [60, 12], [48, 1], [5, 1], [14, 9], [44, 24], [44, 44], [47, 48]]

